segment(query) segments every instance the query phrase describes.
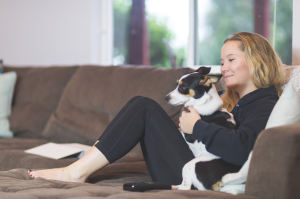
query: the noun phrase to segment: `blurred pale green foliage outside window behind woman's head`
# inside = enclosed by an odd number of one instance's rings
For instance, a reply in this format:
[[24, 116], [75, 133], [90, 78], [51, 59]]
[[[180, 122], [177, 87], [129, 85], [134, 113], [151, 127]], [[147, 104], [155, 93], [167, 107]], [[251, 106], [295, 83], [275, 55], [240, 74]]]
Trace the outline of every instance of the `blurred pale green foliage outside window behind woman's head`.
[[[230, 2], [230, 3], [229, 3]], [[273, 34], [274, 0], [270, 1], [270, 43]], [[219, 65], [220, 50], [228, 35], [254, 31], [254, 2], [212, 0], [206, 26], [211, 34], [199, 43], [199, 65]], [[292, 0], [277, 0], [275, 50], [284, 64], [292, 64]]]

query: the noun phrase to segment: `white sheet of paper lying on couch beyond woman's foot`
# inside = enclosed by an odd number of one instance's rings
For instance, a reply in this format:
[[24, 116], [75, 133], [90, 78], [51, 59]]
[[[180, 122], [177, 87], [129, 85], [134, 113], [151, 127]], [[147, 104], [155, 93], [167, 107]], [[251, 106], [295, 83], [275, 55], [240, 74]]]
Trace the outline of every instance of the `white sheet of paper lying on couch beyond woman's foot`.
[[43, 144], [41, 146], [34, 147], [32, 149], [28, 149], [25, 153], [31, 153], [35, 155], [40, 155], [52, 159], [61, 159], [64, 157], [68, 157], [70, 155], [74, 155], [76, 153], [80, 153], [84, 150], [80, 148], [65, 146], [62, 144], [55, 144], [49, 142], [47, 144]]

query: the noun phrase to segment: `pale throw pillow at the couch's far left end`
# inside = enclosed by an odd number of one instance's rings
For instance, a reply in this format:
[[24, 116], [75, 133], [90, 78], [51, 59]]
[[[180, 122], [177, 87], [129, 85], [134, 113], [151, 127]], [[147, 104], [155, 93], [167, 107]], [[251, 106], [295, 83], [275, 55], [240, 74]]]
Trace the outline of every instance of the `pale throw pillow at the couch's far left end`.
[[11, 101], [17, 74], [15, 72], [0, 75], [0, 137], [12, 137], [8, 118], [11, 113]]

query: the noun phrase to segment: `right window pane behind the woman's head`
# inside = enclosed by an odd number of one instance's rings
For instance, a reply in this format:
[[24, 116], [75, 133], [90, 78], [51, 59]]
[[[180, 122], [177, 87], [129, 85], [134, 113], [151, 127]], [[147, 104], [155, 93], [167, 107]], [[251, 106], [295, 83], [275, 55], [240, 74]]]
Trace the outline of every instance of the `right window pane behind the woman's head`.
[[274, 0], [196, 0], [195, 42], [198, 45], [194, 64], [219, 65], [223, 41], [235, 32], [263, 35], [275, 46], [283, 63], [292, 64], [292, 2], [277, 0], [275, 5]]

